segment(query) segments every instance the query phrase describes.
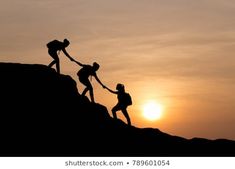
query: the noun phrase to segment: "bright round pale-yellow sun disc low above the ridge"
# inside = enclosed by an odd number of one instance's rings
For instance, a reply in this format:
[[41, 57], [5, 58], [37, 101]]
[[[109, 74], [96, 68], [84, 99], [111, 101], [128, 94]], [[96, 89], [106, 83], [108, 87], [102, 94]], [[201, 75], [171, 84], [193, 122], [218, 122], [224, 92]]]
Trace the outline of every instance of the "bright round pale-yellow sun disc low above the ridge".
[[143, 105], [143, 116], [150, 121], [158, 120], [162, 117], [162, 105], [155, 101], [149, 101]]

